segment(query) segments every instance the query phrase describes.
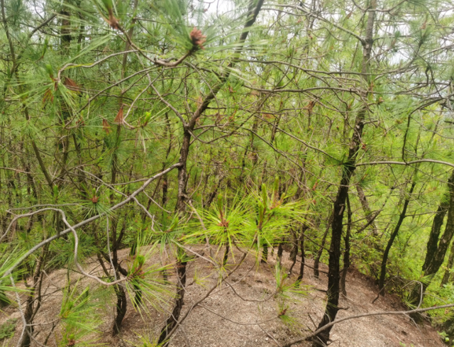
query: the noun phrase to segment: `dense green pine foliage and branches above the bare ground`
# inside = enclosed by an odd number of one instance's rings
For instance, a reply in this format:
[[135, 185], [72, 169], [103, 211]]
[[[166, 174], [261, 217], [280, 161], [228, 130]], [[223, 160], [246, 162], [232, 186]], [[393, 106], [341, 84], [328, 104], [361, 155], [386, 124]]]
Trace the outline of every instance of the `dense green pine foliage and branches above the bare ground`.
[[[67, 226], [51, 207], [72, 226], [91, 219], [76, 230], [79, 263], [102, 263], [90, 273], [118, 277], [128, 303], [151, 316], [171, 309], [178, 264], [194, 265], [194, 282], [208, 287], [211, 275], [238, 265], [237, 250], [260, 260], [262, 248], [289, 246], [301, 225], [311, 238], [306, 256], [319, 252], [325, 230], [328, 248], [339, 187], [348, 186], [353, 266], [377, 277], [408, 197], [388, 260], [389, 278], [404, 280], [388, 288], [405, 297], [409, 282], [431, 282], [424, 305], [453, 299], [440, 273], [421, 274], [433, 214], [450, 200], [450, 1], [377, 4], [367, 61], [367, 1], [315, 1], [316, 16], [304, 4], [265, 2], [252, 26], [248, 1], [4, 3], [0, 299], [12, 300], [34, 271], [45, 282], [65, 268], [61, 346], [95, 343], [93, 313], [115, 309], [118, 291], [74, 286], [75, 239], [58, 235]], [[188, 250], [204, 244], [217, 250]], [[199, 261], [213, 272], [201, 275]], [[288, 302], [306, 288], [281, 268], [275, 276], [279, 319], [296, 326]]]

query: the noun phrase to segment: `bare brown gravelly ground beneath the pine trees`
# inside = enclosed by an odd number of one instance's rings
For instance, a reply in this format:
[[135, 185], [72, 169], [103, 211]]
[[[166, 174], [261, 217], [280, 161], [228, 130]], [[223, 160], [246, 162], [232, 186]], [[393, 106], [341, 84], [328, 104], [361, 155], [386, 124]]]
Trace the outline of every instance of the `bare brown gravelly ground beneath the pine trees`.
[[[201, 251], [203, 248], [194, 247]], [[119, 258], [126, 259], [129, 250], [121, 250]], [[236, 259], [240, 253], [236, 253]], [[157, 259], [156, 259], [157, 260]], [[153, 258], [152, 258], [153, 261]], [[307, 268], [304, 271], [303, 285], [307, 289], [306, 295], [290, 295], [287, 300], [287, 316], [292, 317], [292, 324], [285, 325], [277, 318], [279, 308], [277, 299], [273, 297], [275, 292], [275, 261], [276, 251], [270, 256], [267, 264], [257, 266], [255, 258], [248, 255], [245, 263], [229, 277], [229, 283], [235, 289], [225, 283], [214, 290], [211, 295], [198, 307], [195, 307], [184, 321], [181, 328], [172, 339], [172, 347], [243, 347], [243, 346], [281, 346], [284, 342], [304, 336], [313, 331], [318, 324], [325, 307], [328, 270], [326, 265], [321, 264], [319, 279], [314, 277], [313, 270]], [[306, 260], [306, 264], [313, 265], [312, 260]], [[288, 253], [284, 253], [283, 266], [288, 269], [291, 262]], [[92, 273], [99, 272], [99, 267], [93, 263], [87, 265], [87, 270]], [[294, 267], [289, 281], [296, 280], [299, 272], [299, 263]], [[62, 290], [65, 286], [67, 271], [57, 270], [48, 273], [43, 284], [43, 305], [35, 317], [35, 324], [51, 322], [60, 312]], [[208, 277], [206, 277], [208, 276]], [[198, 280], [195, 281], [194, 278]], [[170, 274], [170, 280], [175, 281], [175, 274]], [[214, 275], [213, 265], [207, 265], [202, 260], [195, 260], [188, 265], [187, 292], [184, 296], [184, 314], [206, 290], [215, 285], [218, 277]], [[93, 280], [84, 279], [82, 285], [96, 287]], [[92, 289], [91, 289], [92, 290]], [[347, 297], [342, 297], [340, 306], [343, 307], [338, 313], [338, 318], [362, 314], [366, 312], [400, 311], [405, 309], [399, 297], [387, 294], [377, 297], [377, 287], [373, 281], [360, 274], [357, 270], [350, 270], [346, 280]], [[22, 296], [24, 301], [26, 297]], [[104, 320], [99, 326], [101, 339], [97, 343], [106, 346], [144, 346], [140, 338], [150, 338], [159, 334], [164, 320], [165, 312], [155, 309], [143, 314], [133, 309], [128, 302], [128, 312], [123, 320], [123, 333], [121, 336], [112, 337], [112, 321], [114, 319], [114, 296], [110, 300], [111, 307], [104, 307], [102, 314]], [[0, 325], [6, 319], [16, 318], [21, 321], [18, 310], [14, 307], [6, 308], [0, 312]], [[17, 324], [16, 334], [8, 345], [16, 346], [20, 335], [21, 324]], [[43, 343], [48, 338], [47, 346], [57, 346], [57, 338], [60, 334], [57, 329], [49, 334], [52, 324], [40, 326], [35, 331], [40, 331], [37, 340]], [[98, 335], [99, 336], [99, 335]], [[339, 347], [382, 347], [382, 346], [414, 346], [432, 347], [445, 346], [433, 327], [424, 322], [414, 324], [408, 316], [369, 316], [353, 319], [336, 324], [331, 330], [331, 346]], [[4, 341], [0, 341], [0, 344]], [[32, 343], [32, 346], [39, 346]], [[76, 344], [78, 346], [78, 344]], [[294, 346], [306, 347], [309, 343], [299, 343]]]

